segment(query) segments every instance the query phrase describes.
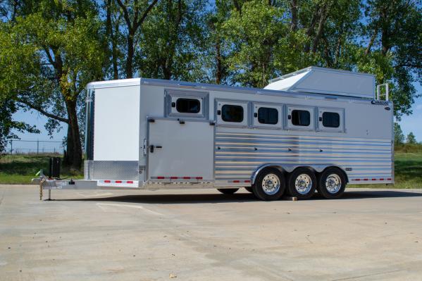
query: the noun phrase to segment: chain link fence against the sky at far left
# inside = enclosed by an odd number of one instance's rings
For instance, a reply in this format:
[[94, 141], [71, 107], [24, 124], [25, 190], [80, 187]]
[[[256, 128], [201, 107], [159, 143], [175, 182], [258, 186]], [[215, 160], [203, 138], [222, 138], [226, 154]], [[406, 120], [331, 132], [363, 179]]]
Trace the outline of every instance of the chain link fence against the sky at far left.
[[4, 154], [63, 154], [63, 142], [46, 140], [11, 139]]

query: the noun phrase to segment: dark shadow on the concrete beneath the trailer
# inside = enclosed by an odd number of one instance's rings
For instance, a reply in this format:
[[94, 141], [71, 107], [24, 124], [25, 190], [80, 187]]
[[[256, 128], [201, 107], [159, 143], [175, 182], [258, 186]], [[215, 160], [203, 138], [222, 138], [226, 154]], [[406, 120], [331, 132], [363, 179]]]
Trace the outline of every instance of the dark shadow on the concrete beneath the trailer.
[[[192, 191], [193, 192], [193, 191]], [[368, 198], [399, 198], [399, 197], [418, 197], [422, 196], [422, 192], [404, 192], [398, 190], [362, 190], [362, 191], [346, 191], [341, 199], [338, 200], [359, 200]], [[253, 194], [237, 193], [237, 194], [130, 194], [123, 196], [107, 196], [95, 198], [75, 198], [75, 199], [53, 199], [54, 201], [117, 201], [125, 203], [142, 203], [142, 204], [218, 204], [230, 202], [249, 202], [256, 201]], [[281, 201], [286, 200], [283, 198]], [[316, 193], [310, 200], [325, 200]]]

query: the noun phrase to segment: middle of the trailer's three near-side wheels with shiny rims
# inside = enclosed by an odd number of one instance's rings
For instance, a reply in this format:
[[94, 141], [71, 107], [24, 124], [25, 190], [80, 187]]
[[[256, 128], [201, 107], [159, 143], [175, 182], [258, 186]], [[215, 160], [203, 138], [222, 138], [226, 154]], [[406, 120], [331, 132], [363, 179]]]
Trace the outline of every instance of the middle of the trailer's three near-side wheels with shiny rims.
[[289, 175], [287, 192], [297, 199], [309, 199], [315, 194], [316, 176], [308, 168], [297, 168]]

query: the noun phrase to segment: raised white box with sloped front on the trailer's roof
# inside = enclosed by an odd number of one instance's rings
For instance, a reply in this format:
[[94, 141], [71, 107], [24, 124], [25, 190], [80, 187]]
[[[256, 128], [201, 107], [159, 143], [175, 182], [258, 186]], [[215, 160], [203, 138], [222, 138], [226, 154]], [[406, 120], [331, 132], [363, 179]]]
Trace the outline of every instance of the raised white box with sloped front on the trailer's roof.
[[264, 89], [375, 98], [375, 76], [310, 66], [270, 80]]

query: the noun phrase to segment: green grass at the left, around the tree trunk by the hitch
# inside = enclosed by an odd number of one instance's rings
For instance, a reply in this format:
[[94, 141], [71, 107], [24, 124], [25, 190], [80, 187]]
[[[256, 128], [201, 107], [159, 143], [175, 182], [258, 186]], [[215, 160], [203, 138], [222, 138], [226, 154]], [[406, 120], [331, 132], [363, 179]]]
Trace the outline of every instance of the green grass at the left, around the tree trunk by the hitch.
[[[49, 155], [4, 155], [0, 158], [0, 184], [29, 185], [35, 174], [49, 170]], [[81, 170], [61, 167], [61, 177], [82, 178]]]

